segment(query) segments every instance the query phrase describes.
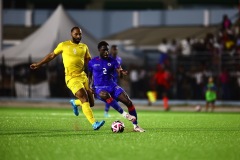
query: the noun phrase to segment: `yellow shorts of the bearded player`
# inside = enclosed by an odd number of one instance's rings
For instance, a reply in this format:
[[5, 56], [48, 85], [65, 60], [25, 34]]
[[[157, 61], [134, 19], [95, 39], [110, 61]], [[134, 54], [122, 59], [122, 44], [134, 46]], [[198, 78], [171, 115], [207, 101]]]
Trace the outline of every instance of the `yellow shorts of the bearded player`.
[[89, 89], [88, 86], [88, 78], [87, 76], [79, 76], [79, 77], [73, 77], [69, 79], [67, 82], [67, 87], [72, 91], [72, 93], [75, 95], [77, 91], [79, 91], [81, 88], [85, 88], [86, 90]]

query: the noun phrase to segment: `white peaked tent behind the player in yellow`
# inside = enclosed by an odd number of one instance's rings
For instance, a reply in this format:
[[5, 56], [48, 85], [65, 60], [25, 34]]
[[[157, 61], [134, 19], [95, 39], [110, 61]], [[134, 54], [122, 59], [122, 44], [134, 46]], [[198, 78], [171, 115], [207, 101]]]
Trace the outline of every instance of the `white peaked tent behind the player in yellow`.
[[[33, 61], [39, 60], [57, 46], [59, 42], [71, 39], [70, 30], [77, 25], [65, 12], [62, 5], [59, 5], [49, 19], [34, 33], [25, 38], [19, 45], [7, 48], [0, 52], [4, 56], [7, 66], [15, 66], [27, 63], [31, 56]], [[80, 27], [82, 28], [82, 27]], [[98, 55], [98, 41], [82, 28], [82, 42], [87, 44], [92, 57]], [[134, 55], [121, 53], [123, 63], [139, 62]], [[9, 61], [11, 59], [11, 61]], [[0, 61], [0, 64], [2, 61]]]

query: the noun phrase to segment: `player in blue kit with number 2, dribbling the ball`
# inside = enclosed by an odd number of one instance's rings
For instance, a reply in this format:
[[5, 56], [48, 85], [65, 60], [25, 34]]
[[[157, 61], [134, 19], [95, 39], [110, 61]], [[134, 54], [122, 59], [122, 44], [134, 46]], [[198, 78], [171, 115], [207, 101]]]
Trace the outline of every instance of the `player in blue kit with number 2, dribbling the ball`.
[[[109, 44], [106, 41], [98, 43], [98, 51], [100, 56], [93, 58], [88, 63], [90, 90], [95, 94], [96, 98], [108, 103], [123, 117], [132, 121], [135, 132], [145, 132], [144, 129], [138, 126], [137, 112], [132, 101], [123, 88], [114, 81], [113, 75], [115, 71], [117, 71], [120, 78], [126, 76], [127, 71], [122, 69], [116, 59], [109, 56]], [[127, 106], [128, 113], [122, 109], [117, 101]]]

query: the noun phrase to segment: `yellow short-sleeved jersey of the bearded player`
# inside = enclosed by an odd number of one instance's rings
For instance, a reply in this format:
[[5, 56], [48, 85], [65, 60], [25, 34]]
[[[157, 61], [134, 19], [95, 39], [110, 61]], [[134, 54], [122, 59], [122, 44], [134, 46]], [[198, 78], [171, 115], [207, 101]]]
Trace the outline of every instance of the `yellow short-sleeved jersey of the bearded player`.
[[68, 40], [59, 43], [53, 52], [54, 54], [62, 53], [66, 82], [71, 78], [86, 75], [84, 72], [84, 59], [91, 58], [86, 44], [75, 44]]

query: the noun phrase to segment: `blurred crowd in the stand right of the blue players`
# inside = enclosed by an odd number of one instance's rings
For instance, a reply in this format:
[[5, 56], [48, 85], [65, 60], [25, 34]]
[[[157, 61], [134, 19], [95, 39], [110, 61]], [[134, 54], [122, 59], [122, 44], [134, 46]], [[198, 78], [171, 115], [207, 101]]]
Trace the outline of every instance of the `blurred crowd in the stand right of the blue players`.
[[233, 23], [227, 15], [222, 17], [216, 32], [202, 39], [163, 38], [157, 51], [146, 51], [146, 66], [138, 71], [145, 75], [133, 74], [132, 96], [143, 97], [153, 90], [159, 92], [158, 98], [165, 92], [171, 99], [203, 100], [207, 79], [212, 77], [219, 100], [240, 100], [240, 18]]

